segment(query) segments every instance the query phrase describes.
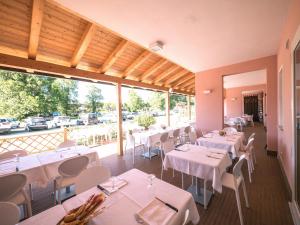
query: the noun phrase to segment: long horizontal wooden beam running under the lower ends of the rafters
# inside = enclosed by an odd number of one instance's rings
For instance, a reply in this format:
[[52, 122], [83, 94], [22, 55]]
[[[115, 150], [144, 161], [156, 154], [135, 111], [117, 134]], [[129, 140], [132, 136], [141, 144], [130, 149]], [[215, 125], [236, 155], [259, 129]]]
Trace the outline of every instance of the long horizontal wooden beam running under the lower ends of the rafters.
[[[169, 91], [169, 88], [161, 87], [158, 85], [147, 84], [139, 81], [122, 79], [120, 77], [108, 76], [105, 74], [99, 74], [98, 72], [91, 72], [80, 70], [77, 68], [56, 65], [48, 62], [29, 60], [26, 58], [6, 55], [0, 53], [0, 67], [5, 69], [21, 69], [31, 70], [45, 75], [57, 75], [61, 77], [74, 77], [78, 79], [101, 81], [107, 83], [120, 83], [127, 86], [141, 87], [151, 90]], [[191, 92], [174, 90], [175, 93], [191, 94]]]

